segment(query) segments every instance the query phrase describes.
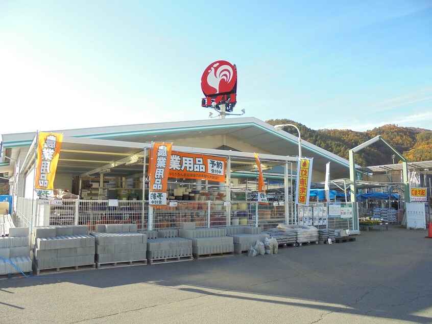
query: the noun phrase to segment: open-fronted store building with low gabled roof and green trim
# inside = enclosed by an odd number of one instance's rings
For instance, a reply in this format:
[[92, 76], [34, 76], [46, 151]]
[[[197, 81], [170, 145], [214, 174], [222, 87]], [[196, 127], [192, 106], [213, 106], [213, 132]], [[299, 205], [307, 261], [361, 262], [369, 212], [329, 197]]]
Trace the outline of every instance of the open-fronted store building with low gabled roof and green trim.
[[[208, 179], [169, 179], [172, 197], [180, 198], [179, 190], [181, 189], [181, 200], [187, 199], [189, 204], [210, 200], [210, 198], [201, 200], [202, 197], [197, 198], [196, 196], [203, 194], [215, 197], [212, 200], [214, 202], [222, 200], [253, 205], [257, 190], [257, 167], [254, 153], [257, 153], [264, 170], [269, 199], [284, 201], [283, 204], [280, 204], [278, 213], [275, 213], [275, 208], [272, 207], [271, 217], [276, 216], [274, 223], [294, 220], [295, 206], [292, 202], [292, 195], [298, 155], [298, 137], [283, 130], [276, 130], [272, 125], [256, 118], [47, 131], [63, 133], [55, 188], [78, 195], [79, 200], [85, 202], [83, 202], [83, 209], [74, 210], [75, 222], [84, 222], [81, 220], [81, 216], [83, 219], [91, 216], [88, 215], [90, 204], [102, 204], [102, 201], [105, 201], [104, 204], [106, 205], [106, 201], [109, 199], [117, 199], [131, 202], [135, 212], [140, 213], [131, 220], [141, 222], [143, 227], [150, 225], [153, 227], [167, 226], [166, 223], [162, 223], [162, 220], [156, 222], [153, 209], [148, 208], [144, 205], [145, 202], [142, 202], [147, 199], [146, 178], [148, 177], [149, 149], [152, 147], [152, 142], [173, 143], [173, 151], [176, 152], [225, 159], [226, 175], [224, 182]], [[0, 173], [11, 178], [11, 194], [16, 198], [15, 210], [19, 210], [19, 199], [35, 200], [34, 152], [36, 133], [2, 134], [2, 137], [3, 157]], [[325, 166], [328, 162], [331, 163], [330, 179], [349, 177], [348, 160], [306, 141], [302, 141], [301, 146], [303, 156], [313, 157], [313, 182], [324, 181]], [[281, 191], [282, 194], [277, 194], [278, 188], [284, 189]], [[188, 197], [185, 197], [185, 194], [188, 194]], [[126, 204], [126, 202], [122, 203]], [[87, 210], [84, 209], [84, 205]], [[243, 207], [244, 205], [229, 205], [227, 203], [224, 203], [223, 207], [218, 206], [215, 210], [224, 211], [225, 215], [217, 225], [234, 223], [231, 219], [235, 214], [234, 211], [244, 210]], [[197, 210], [196, 206], [194, 208]], [[64, 210], [64, 206], [62, 209]], [[115, 217], [118, 218], [120, 217], [118, 214], [128, 214], [128, 209], [130, 210], [130, 207], [122, 209], [122, 212], [118, 206], [115, 206], [115, 208], [108, 208], [107, 211], [117, 210]], [[53, 224], [53, 206], [47, 210], [40, 212], [42, 215], [33, 217], [32, 223], [37, 225]], [[247, 210], [252, 211], [250, 208]], [[258, 214], [257, 206], [255, 213]], [[254, 214], [253, 211], [252, 214]], [[174, 218], [176, 217], [179, 216], [174, 215]], [[269, 220], [268, 217], [268, 213], [260, 213], [260, 218]], [[252, 219], [253, 217], [249, 218]], [[255, 221], [257, 224], [259, 219], [257, 217], [255, 220], [249, 220], [252, 223]], [[101, 213], [93, 221], [100, 222]], [[178, 221], [176, 219], [172, 223], [178, 224]], [[210, 221], [210, 216], [208, 221]], [[269, 223], [269, 225], [271, 224]], [[209, 222], [203, 224], [203, 226], [206, 225], [211, 226], [212, 224]]]

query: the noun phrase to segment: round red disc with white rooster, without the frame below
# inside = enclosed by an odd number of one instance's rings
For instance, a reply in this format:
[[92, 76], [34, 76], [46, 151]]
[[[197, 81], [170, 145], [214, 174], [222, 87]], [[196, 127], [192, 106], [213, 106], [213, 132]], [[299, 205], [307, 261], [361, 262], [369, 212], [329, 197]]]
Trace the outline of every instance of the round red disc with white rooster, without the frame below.
[[227, 61], [216, 61], [205, 69], [201, 89], [207, 97], [236, 92], [237, 69]]

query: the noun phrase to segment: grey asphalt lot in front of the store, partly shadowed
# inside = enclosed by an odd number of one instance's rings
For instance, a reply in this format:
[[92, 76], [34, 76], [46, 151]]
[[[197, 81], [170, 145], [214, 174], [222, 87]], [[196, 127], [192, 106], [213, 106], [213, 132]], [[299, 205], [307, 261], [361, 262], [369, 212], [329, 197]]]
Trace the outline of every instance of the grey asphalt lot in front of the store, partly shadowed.
[[432, 323], [432, 239], [353, 242], [0, 279], [5, 323]]

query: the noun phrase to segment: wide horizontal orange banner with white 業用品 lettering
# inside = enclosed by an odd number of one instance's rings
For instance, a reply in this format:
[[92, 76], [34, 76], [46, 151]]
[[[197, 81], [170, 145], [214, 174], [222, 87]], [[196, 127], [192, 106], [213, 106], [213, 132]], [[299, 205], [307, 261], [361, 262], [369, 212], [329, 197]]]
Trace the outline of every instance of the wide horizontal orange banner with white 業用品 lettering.
[[201, 154], [172, 152], [170, 178], [225, 182], [226, 159]]

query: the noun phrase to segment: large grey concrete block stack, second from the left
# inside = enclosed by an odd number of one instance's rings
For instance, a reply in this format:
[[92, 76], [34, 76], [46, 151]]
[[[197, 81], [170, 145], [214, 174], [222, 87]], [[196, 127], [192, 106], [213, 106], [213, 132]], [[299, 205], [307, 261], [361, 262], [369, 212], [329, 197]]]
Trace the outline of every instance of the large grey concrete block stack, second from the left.
[[39, 226], [32, 238], [36, 273], [40, 270], [94, 267], [94, 237], [86, 225]]

